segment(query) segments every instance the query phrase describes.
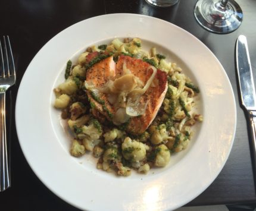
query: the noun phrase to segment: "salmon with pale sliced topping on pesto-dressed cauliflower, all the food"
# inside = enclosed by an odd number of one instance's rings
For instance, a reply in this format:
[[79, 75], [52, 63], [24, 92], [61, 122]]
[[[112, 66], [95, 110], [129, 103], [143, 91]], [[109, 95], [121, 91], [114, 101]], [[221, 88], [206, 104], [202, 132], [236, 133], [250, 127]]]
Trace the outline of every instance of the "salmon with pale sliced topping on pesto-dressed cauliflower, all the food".
[[98, 158], [97, 168], [128, 176], [164, 167], [192, 138], [199, 89], [175, 63], [141, 39], [114, 39], [90, 46], [75, 65], [67, 62], [65, 81], [54, 89], [73, 134], [72, 156]]

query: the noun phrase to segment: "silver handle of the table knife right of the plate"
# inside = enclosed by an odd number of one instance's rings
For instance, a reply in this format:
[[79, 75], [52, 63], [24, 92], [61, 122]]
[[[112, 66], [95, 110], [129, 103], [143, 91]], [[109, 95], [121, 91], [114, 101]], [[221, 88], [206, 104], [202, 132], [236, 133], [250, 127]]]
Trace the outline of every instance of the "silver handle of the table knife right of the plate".
[[[249, 122], [251, 125], [251, 146], [252, 146], [252, 165], [254, 165], [254, 174], [256, 174], [256, 111], [249, 111]], [[254, 175], [256, 177], [256, 175]]]

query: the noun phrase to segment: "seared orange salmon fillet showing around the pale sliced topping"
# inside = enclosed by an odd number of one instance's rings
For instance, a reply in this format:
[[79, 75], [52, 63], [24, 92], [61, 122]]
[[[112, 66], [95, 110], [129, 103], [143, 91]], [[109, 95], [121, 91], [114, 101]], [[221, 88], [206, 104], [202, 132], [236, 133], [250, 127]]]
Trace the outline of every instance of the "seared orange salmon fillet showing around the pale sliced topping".
[[[95, 52], [93, 55], [91, 54], [92, 53], [88, 55], [88, 61], [96, 56]], [[86, 73], [86, 81], [92, 81], [95, 87], [101, 87], [107, 83], [110, 78], [118, 78], [123, 74], [124, 63], [126, 64], [126, 68], [129, 69], [133, 75], [138, 77], [142, 81], [143, 86], [145, 86], [153, 73], [152, 68], [150, 68], [151, 65], [141, 59], [124, 55], [119, 56], [116, 65], [113, 61], [113, 56], [93, 65]], [[154, 84], [154, 86], [152, 86], [152, 84]], [[126, 127], [127, 133], [142, 134], [157, 115], [167, 92], [167, 74], [161, 70], [157, 70], [152, 84], [140, 99], [141, 103], [148, 102], [145, 114], [130, 118], [129, 124]], [[113, 105], [108, 102], [107, 95], [101, 93], [101, 99], [105, 101], [104, 105], [102, 105], [93, 99], [89, 91], [87, 91], [87, 94], [89, 100], [95, 104], [95, 109], [111, 121], [109, 112], [111, 112], [111, 114], [115, 114], [115, 109]], [[107, 112], [107, 110], [109, 112]], [[93, 113], [97, 114], [97, 112]]]

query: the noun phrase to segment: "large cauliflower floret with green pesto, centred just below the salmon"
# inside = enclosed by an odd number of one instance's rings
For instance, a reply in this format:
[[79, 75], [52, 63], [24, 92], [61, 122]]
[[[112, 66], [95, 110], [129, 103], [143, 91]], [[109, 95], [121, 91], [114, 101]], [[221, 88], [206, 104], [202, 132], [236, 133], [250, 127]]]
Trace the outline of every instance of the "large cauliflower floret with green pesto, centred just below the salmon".
[[146, 150], [149, 150], [149, 146], [139, 141], [132, 141], [132, 139], [126, 137], [121, 145], [121, 149], [126, 160], [136, 162], [145, 158]]

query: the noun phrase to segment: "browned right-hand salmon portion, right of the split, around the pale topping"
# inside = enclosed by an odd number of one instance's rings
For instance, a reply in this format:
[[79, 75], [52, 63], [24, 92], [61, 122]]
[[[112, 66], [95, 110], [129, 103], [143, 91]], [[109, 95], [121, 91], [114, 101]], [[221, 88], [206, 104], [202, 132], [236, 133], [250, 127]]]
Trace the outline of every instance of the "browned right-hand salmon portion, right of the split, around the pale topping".
[[[149, 80], [153, 73], [152, 68], [149, 68], [151, 65], [141, 59], [122, 55], [117, 62], [117, 74], [123, 72], [124, 62], [126, 63], [126, 68], [129, 69], [132, 74], [136, 75], [136, 77], [138, 77], [145, 85], [146, 81]], [[157, 115], [167, 91], [167, 74], [161, 70], [157, 70], [154, 83], [155, 86], [150, 86], [141, 99], [141, 102], [148, 101], [145, 114], [130, 119], [126, 128], [128, 133], [142, 134]]]

